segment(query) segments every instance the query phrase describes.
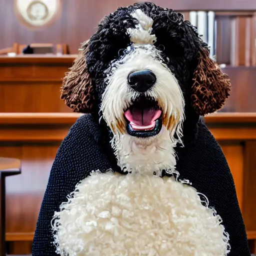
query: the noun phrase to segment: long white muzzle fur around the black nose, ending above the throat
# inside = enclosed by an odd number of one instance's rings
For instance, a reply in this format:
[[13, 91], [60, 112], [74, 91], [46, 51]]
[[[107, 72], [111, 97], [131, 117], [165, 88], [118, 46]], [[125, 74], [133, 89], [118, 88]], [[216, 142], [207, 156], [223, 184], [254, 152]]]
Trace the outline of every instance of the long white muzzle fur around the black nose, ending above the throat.
[[[113, 134], [126, 133], [124, 110], [140, 93], [128, 84], [127, 77], [134, 70], [151, 70], [156, 76], [155, 84], [144, 95], [158, 101], [163, 112], [163, 123], [167, 125], [173, 140], [174, 134], [182, 137], [184, 121], [184, 98], [178, 81], [162, 61], [160, 51], [153, 45], [128, 46], [119, 60], [114, 60], [105, 70], [106, 88], [102, 94], [103, 118]], [[169, 123], [173, 120], [172, 123]]]

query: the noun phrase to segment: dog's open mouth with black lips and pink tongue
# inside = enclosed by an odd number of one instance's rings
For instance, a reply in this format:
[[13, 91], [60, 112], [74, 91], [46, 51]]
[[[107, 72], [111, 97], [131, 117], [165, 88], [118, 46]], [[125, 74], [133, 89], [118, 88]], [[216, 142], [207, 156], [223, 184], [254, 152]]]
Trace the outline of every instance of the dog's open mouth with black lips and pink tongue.
[[136, 137], [157, 135], [162, 127], [162, 110], [153, 99], [138, 98], [125, 110], [127, 132]]

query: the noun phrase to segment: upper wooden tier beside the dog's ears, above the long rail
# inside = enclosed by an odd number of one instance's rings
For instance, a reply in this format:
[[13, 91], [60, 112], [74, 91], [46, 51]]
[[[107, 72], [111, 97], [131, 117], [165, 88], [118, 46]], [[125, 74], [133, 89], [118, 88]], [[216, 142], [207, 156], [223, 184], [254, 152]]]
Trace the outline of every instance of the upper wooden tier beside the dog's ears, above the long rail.
[[[60, 97], [62, 78], [76, 55], [0, 56], [0, 112], [71, 112]], [[256, 66], [226, 66], [230, 97], [222, 111], [256, 112]]]

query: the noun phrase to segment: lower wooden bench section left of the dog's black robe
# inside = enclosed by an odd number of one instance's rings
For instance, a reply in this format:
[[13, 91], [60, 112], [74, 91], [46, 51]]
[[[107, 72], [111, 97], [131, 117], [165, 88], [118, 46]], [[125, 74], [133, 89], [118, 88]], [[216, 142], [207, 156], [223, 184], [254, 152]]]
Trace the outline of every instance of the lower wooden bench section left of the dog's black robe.
[[21, 174], [6, 178], [7, 252], [29, 254], [57, 148], [80, 115], [1, 113], [0, 116], [0, 155], [21, 159]]

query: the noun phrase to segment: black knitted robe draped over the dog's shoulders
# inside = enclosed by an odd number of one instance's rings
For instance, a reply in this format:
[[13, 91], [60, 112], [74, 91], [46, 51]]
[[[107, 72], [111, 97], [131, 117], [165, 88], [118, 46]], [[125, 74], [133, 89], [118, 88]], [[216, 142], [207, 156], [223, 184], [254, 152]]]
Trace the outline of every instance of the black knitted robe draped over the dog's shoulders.
[[[223, 219], [222, 224], [230, 238], [228, 256], [249, 256], [243, 219], [226, 159], [202, 119], [198, 119], [194, 128], [195, 132], [184, 137], [184, 147], [176, 149], [179, 177], [189, 179], [194, 188], [206, 195], [209, 205]], [[33, 239], [33, 256], [56, 255], [50, 222], [54, 211], [66, 201], [76, 183], [91, 170], [118, 170], [105, 130], [91, 114], [85, 114], [77, 119], [62, 141], [41, 204]]]

